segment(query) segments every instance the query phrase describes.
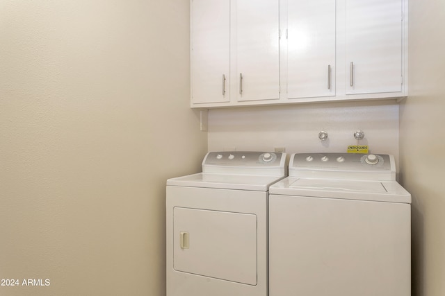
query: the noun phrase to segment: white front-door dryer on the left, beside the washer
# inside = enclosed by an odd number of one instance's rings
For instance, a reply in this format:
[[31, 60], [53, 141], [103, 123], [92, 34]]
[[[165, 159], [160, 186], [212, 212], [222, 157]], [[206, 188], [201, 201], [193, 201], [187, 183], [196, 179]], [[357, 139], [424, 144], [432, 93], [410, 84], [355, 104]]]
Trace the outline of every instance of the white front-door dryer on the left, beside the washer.
[[167, 296], [266, 296], [269, 186], [286, 153], [207, 153], [167, 180]]

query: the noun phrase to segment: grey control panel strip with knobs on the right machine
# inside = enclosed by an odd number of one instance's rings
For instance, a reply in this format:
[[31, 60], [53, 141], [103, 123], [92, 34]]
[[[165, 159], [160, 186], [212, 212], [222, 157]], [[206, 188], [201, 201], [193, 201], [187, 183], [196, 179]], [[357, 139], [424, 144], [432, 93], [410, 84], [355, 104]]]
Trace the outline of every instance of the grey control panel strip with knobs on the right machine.
[[291, 168], [314, 171], [391, 171], [391, 157], [376, 154], [296, 153]]

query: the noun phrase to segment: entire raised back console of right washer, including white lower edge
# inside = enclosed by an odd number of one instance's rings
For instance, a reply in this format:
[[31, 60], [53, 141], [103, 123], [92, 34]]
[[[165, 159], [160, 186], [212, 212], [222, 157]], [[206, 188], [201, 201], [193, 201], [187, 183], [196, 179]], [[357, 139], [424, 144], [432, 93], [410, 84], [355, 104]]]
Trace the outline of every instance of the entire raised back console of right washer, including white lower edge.
[[394, 157], [386, 154], [296, 153], [289, 176], [395, 180], [396, 166]]

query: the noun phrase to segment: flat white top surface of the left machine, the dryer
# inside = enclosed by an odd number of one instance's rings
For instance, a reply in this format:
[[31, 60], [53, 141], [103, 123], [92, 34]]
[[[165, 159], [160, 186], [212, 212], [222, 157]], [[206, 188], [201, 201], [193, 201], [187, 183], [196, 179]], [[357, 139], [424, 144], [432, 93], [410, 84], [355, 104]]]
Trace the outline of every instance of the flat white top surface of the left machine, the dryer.
[[283, 177], [284, 176], [197, 173], [169, 179], [167, 180], [167, 186], [268, 191], [271, 184], [281, 180]]

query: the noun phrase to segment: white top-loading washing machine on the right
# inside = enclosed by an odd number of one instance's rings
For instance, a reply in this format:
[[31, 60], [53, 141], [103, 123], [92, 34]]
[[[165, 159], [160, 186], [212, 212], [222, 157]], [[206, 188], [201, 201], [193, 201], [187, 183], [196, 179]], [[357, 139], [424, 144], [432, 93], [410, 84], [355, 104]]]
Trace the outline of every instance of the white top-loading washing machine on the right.
[[269, 191], [270, 296], [411, 295], [411, 195], [393, 156], [298, 153]]

